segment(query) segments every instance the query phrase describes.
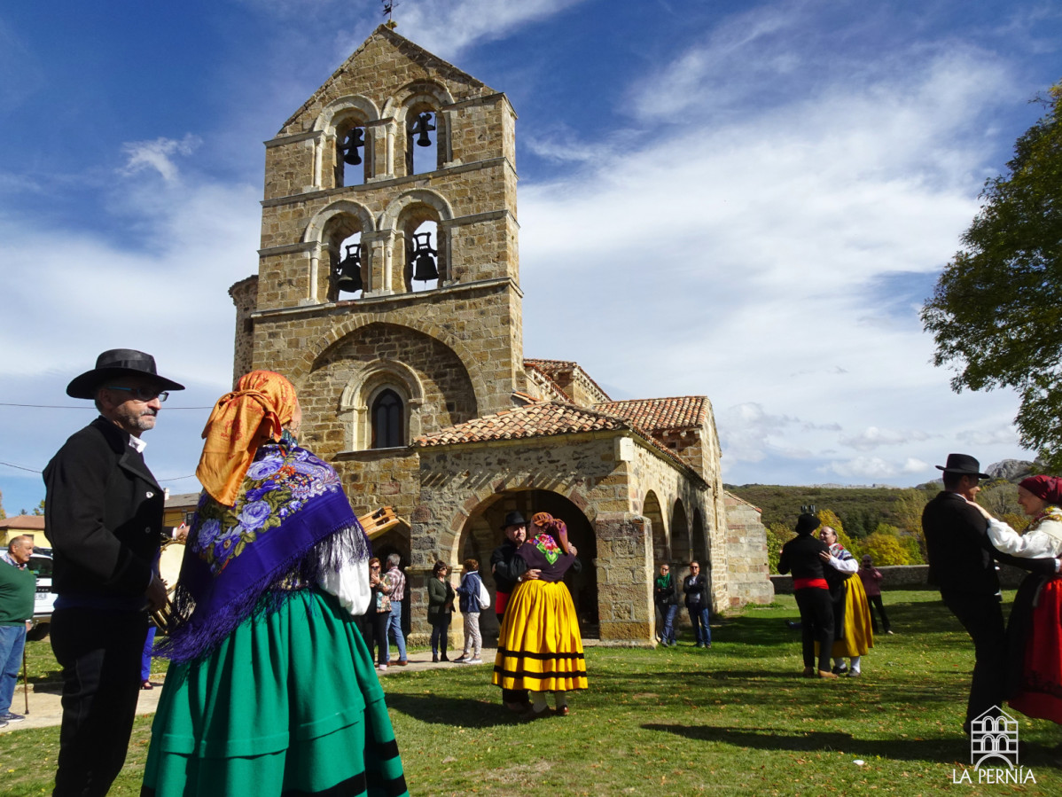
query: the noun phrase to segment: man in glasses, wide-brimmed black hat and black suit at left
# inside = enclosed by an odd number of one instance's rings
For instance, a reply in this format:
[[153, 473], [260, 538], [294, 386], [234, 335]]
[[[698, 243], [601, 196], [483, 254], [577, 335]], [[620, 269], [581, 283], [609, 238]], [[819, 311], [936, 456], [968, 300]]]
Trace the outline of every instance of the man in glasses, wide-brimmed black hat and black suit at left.
[[147, 611], [166, 603], [152, 571], [162, 531], [162, 488], [143, 459], [168, 390], [143, 352], [115, 349], [67, 386], [100, 417], [45, 469], [45, 528], [58, 593], [51, 640], [63, 667], [63, 728], [53, 795], [105, 795], [125, 762]]

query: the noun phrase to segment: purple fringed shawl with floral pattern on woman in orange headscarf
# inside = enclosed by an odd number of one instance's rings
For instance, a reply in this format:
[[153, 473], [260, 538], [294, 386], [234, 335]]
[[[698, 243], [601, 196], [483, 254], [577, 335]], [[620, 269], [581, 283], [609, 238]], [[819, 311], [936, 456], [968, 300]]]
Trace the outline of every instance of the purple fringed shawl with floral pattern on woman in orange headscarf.
[[205, 491], [185, 547], [169, 639], [158, 656], [209, 652], [252, 614], [269, 612], [326, 571], [369, 558], [369, 539], [331, 465], [305, 448], [267, 444], [236, 504]]

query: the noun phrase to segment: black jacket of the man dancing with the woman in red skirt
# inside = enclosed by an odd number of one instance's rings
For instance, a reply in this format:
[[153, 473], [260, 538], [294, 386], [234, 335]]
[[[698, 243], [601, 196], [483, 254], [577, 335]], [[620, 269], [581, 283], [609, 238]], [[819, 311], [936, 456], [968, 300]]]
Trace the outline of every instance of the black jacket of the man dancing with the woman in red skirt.
[[988, 521], [958, 493], [943, 491], [926, 504], [922, 532], [929, 583], [941, 592], [994, 595], [999, 591], [999, 577], [993, 560], [1042, 575], [1055, 573], [1054, 559], [1022, 559], [992, 547]]

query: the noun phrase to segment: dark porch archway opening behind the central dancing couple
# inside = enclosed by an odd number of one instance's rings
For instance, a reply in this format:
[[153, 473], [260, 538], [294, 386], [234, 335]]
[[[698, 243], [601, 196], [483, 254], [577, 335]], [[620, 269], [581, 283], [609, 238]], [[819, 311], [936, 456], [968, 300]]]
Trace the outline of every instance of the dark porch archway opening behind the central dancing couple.
[[598, 577], [597, 577], [597, 538], [594, 527], [582, 510], [567, 497], [550, 490], [509, 490], [492, 495], [476, 507], [465, 521], [458, 540], [456, 566], [460, 572], [460, 563], [465, 559], [478, 559], [483, 583], [491, 593], [491, 608], [479, 616], [480, 632], [484, 645], [495, 645], [498, 640], [498, 620], [496, 609], [496, 586], [491, 575], [491, 555], [504, 541], [501, 523], [506, 513], [518, 510], [529, 522], [535, 512], [549, 512], [554, 518], [565, 522], [568, 527], [568, 541], [576, 546], [582, 571], [576, 573], [569, 570], [564, 577], [564, 583], [571, 593], [571, 600], [579, 617], [579, 629], [584, 639], [598, 639], [600, 627], [598, 620]]

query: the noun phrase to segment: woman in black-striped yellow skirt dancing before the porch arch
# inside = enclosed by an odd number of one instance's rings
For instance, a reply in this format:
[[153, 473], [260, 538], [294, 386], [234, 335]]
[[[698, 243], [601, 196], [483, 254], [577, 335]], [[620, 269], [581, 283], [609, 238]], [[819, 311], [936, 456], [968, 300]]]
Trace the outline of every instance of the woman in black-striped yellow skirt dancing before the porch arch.
[[580, 571], [568, 543], [564, 521], [546, 512], [532, 519], [534, 537], [516, 552], [517, 570], [537, 570], [538, 578], [521, 581], [509, 599], [494, 660], [494, 685], [531, 693], [531, 716], [546, 710], [552, 692], [556, 713], [568, 714], [567, 693], [586, 689], [586, 661], [579, 618], [564, 574]]

